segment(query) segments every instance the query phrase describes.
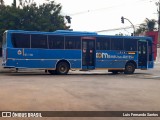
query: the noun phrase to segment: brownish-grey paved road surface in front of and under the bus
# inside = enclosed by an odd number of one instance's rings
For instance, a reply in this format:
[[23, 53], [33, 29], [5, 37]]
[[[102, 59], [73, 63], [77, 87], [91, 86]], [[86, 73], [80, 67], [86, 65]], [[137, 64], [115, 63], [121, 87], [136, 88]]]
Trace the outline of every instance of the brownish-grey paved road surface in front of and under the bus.
[[159, 68], [156, 64], [153, 70], [133, 75], [71, 71], [65, 76], [1, 69], [0, 111], [160, 111]]

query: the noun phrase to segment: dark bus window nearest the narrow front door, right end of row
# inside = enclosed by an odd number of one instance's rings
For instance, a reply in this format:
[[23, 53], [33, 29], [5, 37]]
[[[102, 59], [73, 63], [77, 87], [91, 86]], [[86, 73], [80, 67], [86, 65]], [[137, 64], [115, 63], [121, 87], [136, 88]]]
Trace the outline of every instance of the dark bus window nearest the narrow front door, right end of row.
[[124, 50], [137, 51], [137, 40], [136, 39], [124, 39]]

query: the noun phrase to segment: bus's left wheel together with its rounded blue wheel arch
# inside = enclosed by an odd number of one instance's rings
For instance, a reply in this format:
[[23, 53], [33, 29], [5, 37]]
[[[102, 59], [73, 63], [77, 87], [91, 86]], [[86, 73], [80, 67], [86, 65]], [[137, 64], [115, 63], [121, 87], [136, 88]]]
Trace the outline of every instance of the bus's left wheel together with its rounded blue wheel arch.
[[56, 73], [66, 75], [70, 69], [70, 63], [67, 60], [60, 60], [56, 64]]

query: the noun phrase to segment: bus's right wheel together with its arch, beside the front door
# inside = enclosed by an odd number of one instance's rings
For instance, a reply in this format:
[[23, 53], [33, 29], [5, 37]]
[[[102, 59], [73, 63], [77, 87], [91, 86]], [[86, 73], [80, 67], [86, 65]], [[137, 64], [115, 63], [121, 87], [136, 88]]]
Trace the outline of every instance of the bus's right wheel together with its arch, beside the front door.
[[128, 61], [125, 65], [124, 74], [133, 74], [135, 69], [137, 68], [137, 64], [135, 61]]

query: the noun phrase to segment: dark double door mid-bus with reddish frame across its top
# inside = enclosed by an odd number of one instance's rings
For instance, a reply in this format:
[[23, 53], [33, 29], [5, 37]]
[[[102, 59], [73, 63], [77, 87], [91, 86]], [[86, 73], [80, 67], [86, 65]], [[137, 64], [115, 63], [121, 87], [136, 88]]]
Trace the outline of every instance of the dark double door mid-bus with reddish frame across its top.
[[82, 70], [95, 69], [95, 38], [82, 37]]

